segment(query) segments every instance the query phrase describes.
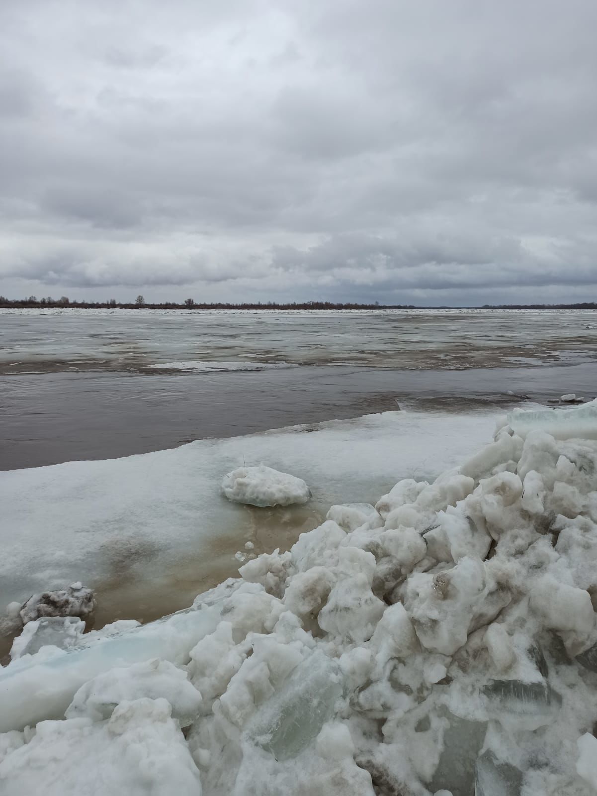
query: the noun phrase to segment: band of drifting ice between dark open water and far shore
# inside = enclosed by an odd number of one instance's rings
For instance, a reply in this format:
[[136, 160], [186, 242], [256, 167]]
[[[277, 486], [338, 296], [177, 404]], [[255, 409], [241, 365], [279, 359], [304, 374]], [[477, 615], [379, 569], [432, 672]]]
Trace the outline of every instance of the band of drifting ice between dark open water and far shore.
[[583, 310], [0, 310], [0, 372], [192, 363], [467, 368], [595, 359]]

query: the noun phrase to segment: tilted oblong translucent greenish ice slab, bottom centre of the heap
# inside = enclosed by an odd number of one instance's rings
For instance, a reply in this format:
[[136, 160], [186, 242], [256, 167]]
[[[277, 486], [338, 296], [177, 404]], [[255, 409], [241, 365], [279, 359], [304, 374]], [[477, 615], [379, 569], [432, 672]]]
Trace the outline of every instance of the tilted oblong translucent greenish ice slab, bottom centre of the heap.
[[277, 760], [296, 757], [334, 715], [342, 694], [338, 665], [323, 653], [313, 653], [259, 708], [247, 727], [247, 736]]

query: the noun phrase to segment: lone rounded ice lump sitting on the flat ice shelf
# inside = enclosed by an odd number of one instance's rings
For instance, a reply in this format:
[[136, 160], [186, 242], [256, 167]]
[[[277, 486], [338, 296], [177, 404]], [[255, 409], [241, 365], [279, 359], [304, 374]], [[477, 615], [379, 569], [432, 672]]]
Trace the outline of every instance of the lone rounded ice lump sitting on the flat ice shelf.
[[311, 498], [311, 490], [302, 478], [264, 464], [232, 470], [224, 476], [222, 489], [228, 500], [261, 508], [306, 503]]

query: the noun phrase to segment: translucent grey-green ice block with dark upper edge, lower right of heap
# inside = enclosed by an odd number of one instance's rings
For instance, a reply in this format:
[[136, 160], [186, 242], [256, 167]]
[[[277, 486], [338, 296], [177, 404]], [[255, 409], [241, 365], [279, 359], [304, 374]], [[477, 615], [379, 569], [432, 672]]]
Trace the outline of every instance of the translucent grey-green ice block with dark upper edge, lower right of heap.
[[500, 723], [512, 720], [529, 730], [549, 724], [562, 704], [560, 694], [543, 682], [491, 680], [481, 693], [487, 699], [488, 712]]

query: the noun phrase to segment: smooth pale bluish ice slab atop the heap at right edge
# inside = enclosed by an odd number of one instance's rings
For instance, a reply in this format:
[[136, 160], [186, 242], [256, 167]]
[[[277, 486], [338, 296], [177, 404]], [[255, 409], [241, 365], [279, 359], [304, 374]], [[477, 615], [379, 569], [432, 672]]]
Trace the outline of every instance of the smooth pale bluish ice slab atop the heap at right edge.
[[597, 438], [597, 399], [583, 406], [565, 409], [514, 409], [508, 415], [510, 427], [518, 435], [539, 429], [556, 439]]

